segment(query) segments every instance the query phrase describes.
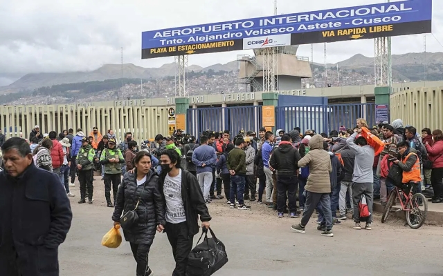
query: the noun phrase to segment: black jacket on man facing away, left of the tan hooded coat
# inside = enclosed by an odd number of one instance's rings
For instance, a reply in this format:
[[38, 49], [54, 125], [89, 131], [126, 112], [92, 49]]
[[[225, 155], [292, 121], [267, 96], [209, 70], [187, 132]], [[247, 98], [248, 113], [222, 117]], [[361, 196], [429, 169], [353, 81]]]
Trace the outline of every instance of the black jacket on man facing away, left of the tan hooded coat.
[[[281, 141], [278, 148], [275, 148], [271, 155], [269, 164], [277, 170], [278, 176], [293, 177], [297, 175], [298, 161], [300, 161], [300, 153], [294, 148], [289, 141]], [[294, 182], [294, 184], [296, 184]]]

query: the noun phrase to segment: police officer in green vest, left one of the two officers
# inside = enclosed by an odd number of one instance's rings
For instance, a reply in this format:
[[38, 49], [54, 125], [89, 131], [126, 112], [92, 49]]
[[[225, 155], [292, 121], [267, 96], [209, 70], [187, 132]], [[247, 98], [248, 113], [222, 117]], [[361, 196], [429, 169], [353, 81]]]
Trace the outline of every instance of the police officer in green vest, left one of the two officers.
[[77, 170], [78, 170], [78, 181], [80, 182], [80, 201], [79, 204], [85, 203], [86, 189], [88, 189], [88, 199], [89, 204], [92, 204], [92, 194], [93, 194], [93, 161], [96, 151], [89, 144], [87, 137], [82, 138], [82, 148], [80, 148], [77, 155]]

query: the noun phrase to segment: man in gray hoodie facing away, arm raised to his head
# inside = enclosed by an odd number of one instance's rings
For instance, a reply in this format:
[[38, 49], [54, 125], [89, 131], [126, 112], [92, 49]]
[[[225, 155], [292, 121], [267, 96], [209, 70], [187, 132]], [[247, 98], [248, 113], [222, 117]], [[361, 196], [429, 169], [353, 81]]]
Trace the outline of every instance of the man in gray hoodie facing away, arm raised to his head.
[[[369, 217], [366, 219], [366, 230], [371, 230], [372, 223], [372, 204], [374, 202], [374, 174], [372, 165], [374, 164], [374, 148], [368, 145], [368, 141], [364, 137], [355, 139], [361, 130], [354, 132], [347, 138], [347, 146], [355, 152], [354, 175], [352, 175], [352, 201], [354, 203], [354, 229], [360, 230], [360, 210], [359, 203], [361, 196], [365, 195], [368, 204]], [[355, 139], [355, 142], [354, 142]]]

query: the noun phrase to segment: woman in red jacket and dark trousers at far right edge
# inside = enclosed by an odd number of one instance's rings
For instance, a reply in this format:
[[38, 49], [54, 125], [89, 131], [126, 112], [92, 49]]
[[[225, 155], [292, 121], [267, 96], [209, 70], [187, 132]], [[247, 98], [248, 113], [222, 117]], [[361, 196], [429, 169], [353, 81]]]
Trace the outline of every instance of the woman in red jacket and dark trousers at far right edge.
[[443, 132], [434, 130], [432, 132], [434, 143], [428, 141], [424, 144], [428, 152], [428, 158], [433, 162], [431, 172], [431, 185], [434, 190], [433, 203], [443, 202]]

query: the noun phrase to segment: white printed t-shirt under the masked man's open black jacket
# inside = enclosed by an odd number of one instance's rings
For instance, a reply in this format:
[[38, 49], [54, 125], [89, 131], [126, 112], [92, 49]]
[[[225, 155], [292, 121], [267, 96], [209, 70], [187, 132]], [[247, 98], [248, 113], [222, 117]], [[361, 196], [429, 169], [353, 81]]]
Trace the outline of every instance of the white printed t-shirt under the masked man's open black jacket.
[[166, 175], [163, 193], [166, 199], [166, 221], [170, 224], [186, 221], [185, 206], [181, 198], [181, 169], [177, 177]]

